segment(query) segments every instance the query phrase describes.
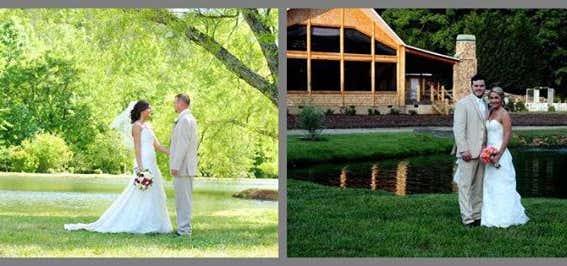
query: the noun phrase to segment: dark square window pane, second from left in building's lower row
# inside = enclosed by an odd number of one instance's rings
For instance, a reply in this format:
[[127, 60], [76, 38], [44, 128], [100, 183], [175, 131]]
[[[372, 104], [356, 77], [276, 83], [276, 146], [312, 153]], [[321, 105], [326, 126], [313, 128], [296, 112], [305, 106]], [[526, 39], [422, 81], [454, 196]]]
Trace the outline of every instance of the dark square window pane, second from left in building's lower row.
[[334, 60], [311, 60], [311, 90], [340, 91], [341, 62]]

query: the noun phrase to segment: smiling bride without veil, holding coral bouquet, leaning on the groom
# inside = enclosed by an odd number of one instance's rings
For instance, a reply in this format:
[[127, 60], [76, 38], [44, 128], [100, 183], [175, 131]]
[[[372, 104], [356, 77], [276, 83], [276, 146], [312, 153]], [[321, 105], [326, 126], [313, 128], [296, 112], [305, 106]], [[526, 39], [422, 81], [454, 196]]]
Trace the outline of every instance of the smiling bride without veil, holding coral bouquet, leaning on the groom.
[[484, 172], [481, 225], [506, 228], [528, 222], [520, 194], [516, 191], [516, 171], [508, 143], [512, 136], [510, 115], [502, 107], [504, 92], [493, 88], [489, 93], [490, 116], [486, 121], [487, 145], [498, 149]]

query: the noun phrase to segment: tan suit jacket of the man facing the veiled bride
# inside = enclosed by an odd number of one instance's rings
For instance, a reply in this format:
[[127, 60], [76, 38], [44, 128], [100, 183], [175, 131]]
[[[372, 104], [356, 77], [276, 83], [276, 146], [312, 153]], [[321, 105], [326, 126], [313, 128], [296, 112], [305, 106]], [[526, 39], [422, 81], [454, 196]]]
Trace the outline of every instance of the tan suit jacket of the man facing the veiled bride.
[[178, 176], [196, 176], [198, 146], [197, 120], [186, 109], [179, 113], [171, 134], [169, 169], [178, 170]]

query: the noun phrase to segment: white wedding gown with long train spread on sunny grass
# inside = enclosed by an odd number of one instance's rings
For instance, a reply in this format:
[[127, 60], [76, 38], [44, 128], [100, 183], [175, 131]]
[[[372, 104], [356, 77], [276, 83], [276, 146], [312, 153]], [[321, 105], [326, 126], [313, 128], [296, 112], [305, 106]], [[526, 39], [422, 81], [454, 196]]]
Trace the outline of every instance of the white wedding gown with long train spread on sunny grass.
[[163, 179], [157, 166], [152, 129], [142, 126], [141, 159], [153, 175], [153, 184], [145, 191], [137, 189], [132, 174], [122, 194], [95, 222], [65, 224], [66, 230], [88, 230], [102, 233], [169, 233], [173, 231], [167, 211]]

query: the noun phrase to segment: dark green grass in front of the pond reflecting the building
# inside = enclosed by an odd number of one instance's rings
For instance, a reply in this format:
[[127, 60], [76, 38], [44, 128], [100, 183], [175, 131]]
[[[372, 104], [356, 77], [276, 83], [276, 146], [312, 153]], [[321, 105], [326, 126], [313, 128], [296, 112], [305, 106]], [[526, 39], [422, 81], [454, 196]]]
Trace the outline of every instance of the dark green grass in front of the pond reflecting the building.
[[287, 182], [290, 257], [567, 256], [567, 200], [523, 199], [528, 224], [466, 229], [456, 194], [398, 197]]

